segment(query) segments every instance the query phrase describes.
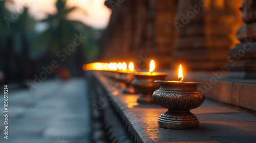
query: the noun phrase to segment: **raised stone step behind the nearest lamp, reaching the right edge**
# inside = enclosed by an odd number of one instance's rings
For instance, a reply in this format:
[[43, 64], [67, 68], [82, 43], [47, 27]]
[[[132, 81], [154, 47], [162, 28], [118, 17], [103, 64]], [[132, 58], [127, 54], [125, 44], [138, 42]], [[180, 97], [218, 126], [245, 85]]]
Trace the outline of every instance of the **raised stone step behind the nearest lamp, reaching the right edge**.
[[218, 79], [212, 73], [190, 75], [189, 81], [204, 83], [199, 88], [206, 98], [256, 111], [256, 80], [229, 79], [226, 75]]

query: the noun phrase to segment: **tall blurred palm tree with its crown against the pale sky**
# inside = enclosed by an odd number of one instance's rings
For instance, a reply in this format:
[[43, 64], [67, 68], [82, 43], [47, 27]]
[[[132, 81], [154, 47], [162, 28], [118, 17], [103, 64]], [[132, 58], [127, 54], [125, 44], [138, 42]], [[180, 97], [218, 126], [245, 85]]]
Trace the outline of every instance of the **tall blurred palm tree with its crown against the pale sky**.
[[[63, 49], [66, 49], [69, 44], [73, 44], [73, 40], [77, 37], [75, 35], [88, 36], [90, 27], [85, 26], [79, 21], [67, 19], [67, 15], [78, 8], [66, 8], [65, 6], [65, 0], [57, 0], [56, 14], [48, 14], [46, 19], [41, 20], [41, 22], [47, 23], [47, 29], [36, 37], [32, 45], [35, 53], [45, 53], [44, 55], [46, 55], [42, 57], [44, 62], [41, 62], [41, 64], [50, 65], [52, 60], [59, 60], [57, 53], [59, 51], [64, 53]], [[84, 13], [86, 14], [86, 12]], [[77, 61], [74, 58], [84, 57], [84, 47], [86, 47], [86, 40], [81, 41], [81, 44], [76, 46], [75, 51], [70, 55], [66, 55], [67, 60], [59, 62], [60, 66], [69, 67], [73, 70], [72, 73], [74, 73], [76, 67], [72, 63]], [[45, 51], [41, 51], [41, 49], [45, 49]], [[81, 49], [79, 53], [76, 53], [77, 49]], [[79, 56], [75, 56], [76, 54], [79, 54]]]

